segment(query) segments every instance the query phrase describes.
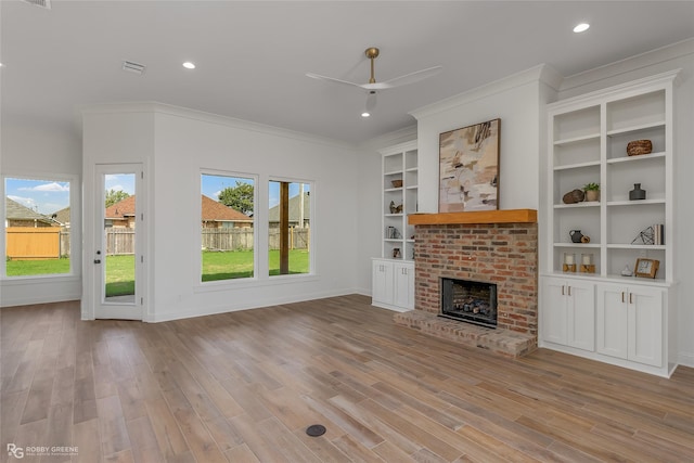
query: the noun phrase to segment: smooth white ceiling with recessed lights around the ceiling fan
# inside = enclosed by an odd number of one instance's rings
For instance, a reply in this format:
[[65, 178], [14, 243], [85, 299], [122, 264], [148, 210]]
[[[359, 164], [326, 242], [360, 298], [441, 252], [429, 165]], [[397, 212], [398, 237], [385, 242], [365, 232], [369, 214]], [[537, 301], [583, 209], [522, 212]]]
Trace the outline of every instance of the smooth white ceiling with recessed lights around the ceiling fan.
[[[693, 1], [0, 2], [2, 124], [62, 124], [80, 107], [157, 101], [358, 143], [409, 112], [540, 63], [563, 76], [694, 37]], [[574, 34], [579, 22], [591, 28]], [[362, 119], [368, 47], [376, 80], [435, 65], [378, 94]], [[139, 76], [123, 60], [146, 65]], [[195, 70], [181, 66], [196, 63]]]

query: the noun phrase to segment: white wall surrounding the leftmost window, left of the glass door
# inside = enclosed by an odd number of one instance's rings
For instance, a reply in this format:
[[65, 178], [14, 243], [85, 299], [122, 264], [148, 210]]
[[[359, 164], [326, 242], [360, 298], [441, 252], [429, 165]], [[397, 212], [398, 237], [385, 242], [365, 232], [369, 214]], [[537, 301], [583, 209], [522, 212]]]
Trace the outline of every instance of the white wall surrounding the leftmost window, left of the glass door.
[[[66, 128], [27, 121], [2, 125], [0, 170], [8, 176], [66, 178], [73, 181], [70, 203], [72, 274], [50, 278], [11, 278], [0, 281], [0, 307], [76, 300], [81, 294], [81, 141]], [[4, 184], [0, 187], [4, 197]], [[4, 217], [4, 201], [0, 205]], [[4, 233], [0, 236], [4, 249]]]

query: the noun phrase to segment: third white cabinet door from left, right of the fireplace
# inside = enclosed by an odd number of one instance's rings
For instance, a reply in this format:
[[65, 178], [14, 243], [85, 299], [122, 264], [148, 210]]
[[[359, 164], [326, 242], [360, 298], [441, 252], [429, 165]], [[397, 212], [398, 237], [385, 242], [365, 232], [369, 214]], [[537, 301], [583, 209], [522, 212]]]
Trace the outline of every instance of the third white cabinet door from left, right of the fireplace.
[[627, 358], [627, 298], [629, 290], [614, 284], [597, 285], [595, 305], [595, 350], [606, 356]]

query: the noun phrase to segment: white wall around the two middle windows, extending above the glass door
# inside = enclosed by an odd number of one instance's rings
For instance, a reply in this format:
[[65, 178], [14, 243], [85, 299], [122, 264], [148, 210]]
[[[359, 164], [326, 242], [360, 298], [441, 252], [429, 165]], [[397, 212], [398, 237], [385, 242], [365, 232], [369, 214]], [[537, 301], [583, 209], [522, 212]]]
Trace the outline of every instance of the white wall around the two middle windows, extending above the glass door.
[[[102, 112], [99, 108], [98, 112]], [[118, 159], [121, 147], [146, 140], [149, 163], [149, 303], [145, 319], [160, 321], [307, 300], [356, 291], [359, 184], [356, 151], [336, 142], [222, 118], [178, 107], [152, 104], [140, 125], [132, 107], [111, 107], [111, 116], [86, 115], [85, 170], [100, 153]], [[138, 127], [139, 126], [139, 127]], [[140, 129], [144, 128], [140, 132]], [[92, 136], [93, 133], [93, 136]], [[116, 134], [117, 136], [114, 136]], [[129, 140], [130, 136], [134, 140]], [[88, 143], [89, 142], [89, 143]], [[146, 146], [146, 143], [143, 143]], [[146, 151], [146, 149], [144, 150]], [[133, 159], [128, 159], [133, 160]], [[254, 280], [200, 283], [201, 169], [258, 176], [256, 229], [260, 242]], [[311, 223], [314, 272], [269, 278], [267, 255], [268, 180], [314, 182]], [[90, 184], [85, 182], [86, 196]], [[89, 250], [86, 249], [87, 255]], [[145, 257], [145, 260], [147, 258]]]

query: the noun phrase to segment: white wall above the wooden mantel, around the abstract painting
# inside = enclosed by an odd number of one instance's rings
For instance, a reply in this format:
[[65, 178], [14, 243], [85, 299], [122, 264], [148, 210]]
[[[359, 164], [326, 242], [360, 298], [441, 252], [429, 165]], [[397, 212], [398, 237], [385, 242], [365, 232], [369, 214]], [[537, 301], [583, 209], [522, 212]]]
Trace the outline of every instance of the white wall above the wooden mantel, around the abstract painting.
[[547, 86], [556, 76], [537, 66], [481, 88], [416, 110], [420, 211], [438, 211], [439, 134], [501, 119], [499, 208], [539, 208], [541, 115]]

